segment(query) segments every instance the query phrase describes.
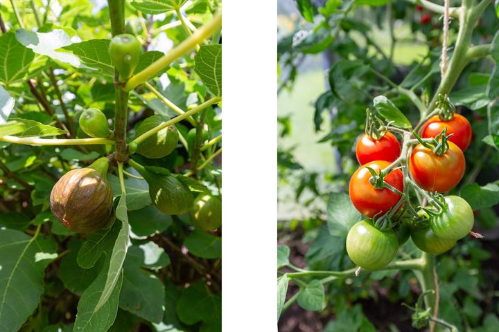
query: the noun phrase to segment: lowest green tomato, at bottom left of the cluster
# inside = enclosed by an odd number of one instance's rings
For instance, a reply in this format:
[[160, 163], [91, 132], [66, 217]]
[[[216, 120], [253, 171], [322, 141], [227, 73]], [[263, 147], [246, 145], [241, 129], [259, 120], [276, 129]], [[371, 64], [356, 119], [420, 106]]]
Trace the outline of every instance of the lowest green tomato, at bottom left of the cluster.
[[353, 263], [366, 270], [387, 266], [399, 250], [399, 241], [392, 230], [382, 232], [370, 219], [359, 221], [347, 235], [347, 252]]

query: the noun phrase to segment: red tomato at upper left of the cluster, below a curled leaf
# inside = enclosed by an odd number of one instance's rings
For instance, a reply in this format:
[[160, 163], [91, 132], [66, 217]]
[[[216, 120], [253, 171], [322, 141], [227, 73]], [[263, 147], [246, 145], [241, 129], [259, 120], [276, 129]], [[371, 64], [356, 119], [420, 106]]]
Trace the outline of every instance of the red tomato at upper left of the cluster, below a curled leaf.
[[393, 162], [396, 158], [399, 158], [400, 149], [399, 140], [389, 131], [380, 140], [373, 140], [365, 133], [357, 141], [356, 156], [360, 165], [374, 160]]

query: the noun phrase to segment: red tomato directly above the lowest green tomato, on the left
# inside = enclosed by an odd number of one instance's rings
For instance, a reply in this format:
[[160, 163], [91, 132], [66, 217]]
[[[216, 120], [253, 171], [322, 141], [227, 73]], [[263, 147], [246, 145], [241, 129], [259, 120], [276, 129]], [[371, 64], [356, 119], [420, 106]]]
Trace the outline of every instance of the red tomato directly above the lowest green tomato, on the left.
[[[389, 164], [385, 160], [371, 161], [371, 163], [360, 166], [350, 179], [350, 200], [360, 213], [369, 218], [379, 212], [382, 214], [388, 212], [401, 199], [401, 195], [392, 192], [392, 190], [388, 188], [378, 190], [369, 183], [371, 173], [366, 167], [371, 167], [378, 173], [380, 169], [384, 169]], [[385, 182], [403, 192], [403, 175], [400, 169], [390, 172], [385, 177]]]

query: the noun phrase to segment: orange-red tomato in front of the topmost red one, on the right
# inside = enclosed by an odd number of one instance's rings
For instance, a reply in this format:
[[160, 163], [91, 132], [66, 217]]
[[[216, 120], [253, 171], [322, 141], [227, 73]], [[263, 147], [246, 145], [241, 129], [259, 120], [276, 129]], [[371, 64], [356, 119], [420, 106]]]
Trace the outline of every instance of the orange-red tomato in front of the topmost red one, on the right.
[[419, 187], [429, 192], [446, 192], [461, 181], [464, 175], [464, 154], [453, 142], [448, 151], [437, 156], [432, 150], [418, 144], [412, 151], [409, 170]]

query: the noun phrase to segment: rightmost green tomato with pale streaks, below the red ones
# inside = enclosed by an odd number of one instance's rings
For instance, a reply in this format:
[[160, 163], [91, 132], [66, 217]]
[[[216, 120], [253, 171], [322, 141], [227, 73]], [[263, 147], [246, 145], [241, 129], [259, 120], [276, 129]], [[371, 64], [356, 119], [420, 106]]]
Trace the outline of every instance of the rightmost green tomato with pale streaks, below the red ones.
[[442, 239], [459, 240], [471, 232], [475, 216], [471, 206], [459, 196], [446, 196], [441, 214], [430, 218], [430, 228]]

